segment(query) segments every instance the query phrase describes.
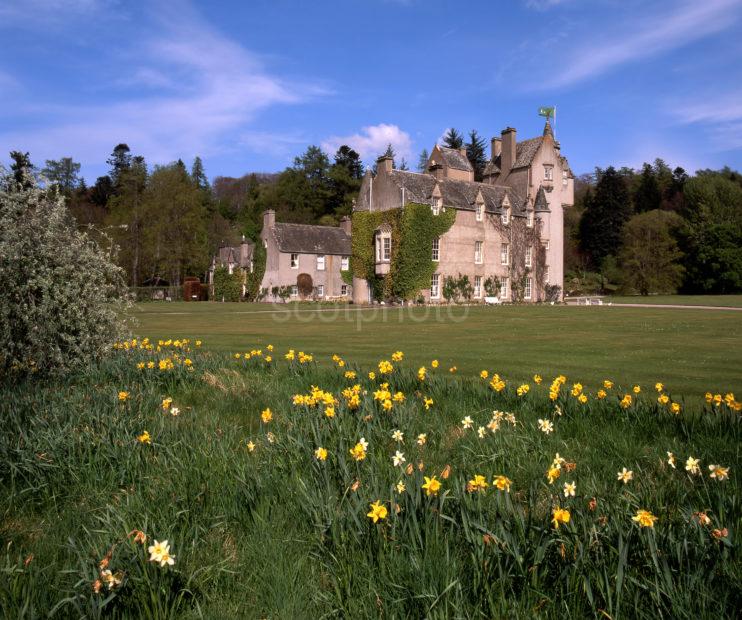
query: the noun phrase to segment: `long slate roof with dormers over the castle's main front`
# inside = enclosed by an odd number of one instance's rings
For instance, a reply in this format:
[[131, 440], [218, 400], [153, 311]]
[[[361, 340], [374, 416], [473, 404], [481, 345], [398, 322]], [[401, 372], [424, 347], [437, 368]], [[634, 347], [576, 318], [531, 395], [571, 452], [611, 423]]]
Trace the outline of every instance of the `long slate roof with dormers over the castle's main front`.
[[431, 174], [420, 174], [408, 170], [392, 170], [392, 181], [405, 189], [405, 201], [430, 204], [433, 189], [438, 184], [444, 207], [473, 211], [477, 195], [482, 193], [484, 209], [488, 213], [502, 210], [503, 198], [507, 195], [513, 215], [525, 215], [525, 206], [520, 197], [509, 187], [488, 185], [476, 181], [436, 179]]

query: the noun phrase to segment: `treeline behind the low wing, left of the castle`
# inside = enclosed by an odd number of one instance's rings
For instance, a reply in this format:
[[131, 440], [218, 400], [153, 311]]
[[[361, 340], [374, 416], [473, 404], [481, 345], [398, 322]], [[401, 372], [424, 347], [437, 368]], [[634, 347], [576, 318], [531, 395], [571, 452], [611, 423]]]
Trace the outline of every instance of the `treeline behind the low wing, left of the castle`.
[[258, 239], [266, 209], [279, 221], [335, 225], [350, 215], [364, 172], [348, 146], [332, 163], [310, 146], [281, 173], [216, 177], [213, 186], [199, 157], [190, 169], [181, 160], [149, 169], [126, 144], [113, 149], [108, 174], [92, 187], [70, 157], [47, 160], [40, 169], [28, 153], [14, 151], [11, 159], [14, 176], [56, 187], [78, 227], [113, 241], [132, 286], [204, 278], [220, 246], [237, 244], [243, 235]]

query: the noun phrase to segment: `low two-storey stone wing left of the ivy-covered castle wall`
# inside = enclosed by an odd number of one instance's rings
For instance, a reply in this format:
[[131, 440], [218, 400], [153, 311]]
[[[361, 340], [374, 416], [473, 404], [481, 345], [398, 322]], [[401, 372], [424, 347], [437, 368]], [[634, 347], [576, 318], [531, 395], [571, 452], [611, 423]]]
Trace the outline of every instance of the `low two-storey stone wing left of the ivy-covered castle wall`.
[[[350, 289], [341, 270], [349, 269], [350, 219], [340, 227], [276, 223], [274, 211], [263, 214], [261, 241], [266, 250], [265, 275], [261, 288], [269, 301], [278, 301], [274, 287], [290, 286], [290, 299], [350, 299]], [[311, 278], [313, 291], [302, 296], [297, 284], [301, 274]]]

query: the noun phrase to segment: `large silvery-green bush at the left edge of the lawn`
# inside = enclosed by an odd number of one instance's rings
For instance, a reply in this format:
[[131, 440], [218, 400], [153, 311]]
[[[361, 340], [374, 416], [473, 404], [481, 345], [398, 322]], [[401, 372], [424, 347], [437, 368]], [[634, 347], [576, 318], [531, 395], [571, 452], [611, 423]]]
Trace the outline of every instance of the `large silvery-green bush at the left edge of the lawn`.
[[0, 184], [0, 373], [65, 371], [122, 335], [122, 270], [56, 190]]

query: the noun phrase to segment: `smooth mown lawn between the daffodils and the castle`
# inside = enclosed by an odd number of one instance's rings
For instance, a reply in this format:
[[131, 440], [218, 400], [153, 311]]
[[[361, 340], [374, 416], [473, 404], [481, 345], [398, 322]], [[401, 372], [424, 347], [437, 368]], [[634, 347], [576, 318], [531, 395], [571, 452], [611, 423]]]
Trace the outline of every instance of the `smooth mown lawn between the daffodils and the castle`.
[[318, 312], [269, 304], [141, 304], [137, 333], [202, 338], [220, 353], [272, 343], [328, 362], [335, 353], [372, 366], [391, 348], [413, 364], [433, 358], [459, 374], [499, 372], [512, 381], [565, 374], [590, 389], [610, 378], [645, 388], [662, 381], [695, 404], [707, 390], [742, 391], [742, 313], [654, 308], [507, 306], [372, 308]]

